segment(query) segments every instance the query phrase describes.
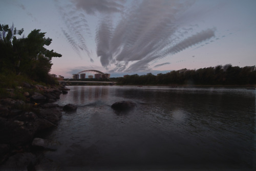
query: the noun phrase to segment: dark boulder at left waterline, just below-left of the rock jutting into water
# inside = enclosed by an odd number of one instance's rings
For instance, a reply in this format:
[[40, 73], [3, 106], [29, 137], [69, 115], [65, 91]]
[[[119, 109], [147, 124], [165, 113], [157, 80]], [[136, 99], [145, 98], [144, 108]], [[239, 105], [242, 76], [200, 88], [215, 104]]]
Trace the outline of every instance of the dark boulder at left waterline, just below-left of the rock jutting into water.
[[40, 109], [39, 114], [37, 116], [41, 117], [42, 119], [46, 119], [53, 124], [57, 125], [58, 121], [61, 118], [61, 111], [58, 108], [51, 108], [51, 109]]

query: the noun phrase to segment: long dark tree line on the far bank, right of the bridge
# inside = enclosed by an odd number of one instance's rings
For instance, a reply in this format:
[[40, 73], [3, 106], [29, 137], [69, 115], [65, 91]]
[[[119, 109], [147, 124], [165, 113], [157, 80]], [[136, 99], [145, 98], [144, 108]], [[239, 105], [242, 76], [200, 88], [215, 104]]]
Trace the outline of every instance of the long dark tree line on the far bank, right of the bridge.
[[225, 65], [198, 70], [182, 69], [157, 76], [152, 73], [126, 75], [117, 81], [123, 85], [252, 85], [256, 84], [256, 68]]

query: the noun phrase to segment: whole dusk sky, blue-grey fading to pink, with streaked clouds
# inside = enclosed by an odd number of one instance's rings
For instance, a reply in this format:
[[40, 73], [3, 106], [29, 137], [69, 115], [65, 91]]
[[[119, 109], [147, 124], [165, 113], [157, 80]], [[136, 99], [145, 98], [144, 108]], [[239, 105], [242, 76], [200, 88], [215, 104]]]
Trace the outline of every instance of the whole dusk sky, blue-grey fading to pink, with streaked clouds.
[[[46, 32], [52, 74], [111, 77], [256, 64], [255, 0], [0, 0], [0, 24]], [[87, 76], [90, 73], [87, 74]]]

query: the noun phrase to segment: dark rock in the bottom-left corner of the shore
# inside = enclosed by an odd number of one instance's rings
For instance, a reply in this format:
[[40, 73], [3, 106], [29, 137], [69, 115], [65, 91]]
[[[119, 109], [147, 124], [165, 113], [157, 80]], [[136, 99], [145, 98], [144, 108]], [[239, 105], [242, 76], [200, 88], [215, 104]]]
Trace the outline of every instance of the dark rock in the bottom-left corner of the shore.
[[35, 164], [36, 156], [32, 153], [17, 153], [0, 166], [0, 170], [29, 170]]

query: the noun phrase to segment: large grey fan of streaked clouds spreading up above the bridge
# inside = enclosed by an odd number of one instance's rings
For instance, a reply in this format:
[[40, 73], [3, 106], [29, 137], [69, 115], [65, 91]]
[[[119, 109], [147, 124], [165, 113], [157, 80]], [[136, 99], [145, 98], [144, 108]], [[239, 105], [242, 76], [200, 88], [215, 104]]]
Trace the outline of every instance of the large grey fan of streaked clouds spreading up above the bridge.
[[[186, 11], [194, 1], [136, 0], [129, 1], [130, 8], [124, 10], [125, 2], [74, 0], [59, 6], [67, 26], [63, 34], [78, 54], [84, 51], [91, 60], [91, 50], [83, 34], [90, 29], [86, 15], [101, 14], [95, 31], [96, 54], [101, 65], [111, 72], [145, 71], [167, 65], [169, 62], [157, 63], [189, 47], [200, 47], [204, 41], [215, 37], [215, 28], [198, 30], [197, 23], [185, 24], [187, 18], [191, 18]], [[121, 16], [117, 23], [113, 14]]]

